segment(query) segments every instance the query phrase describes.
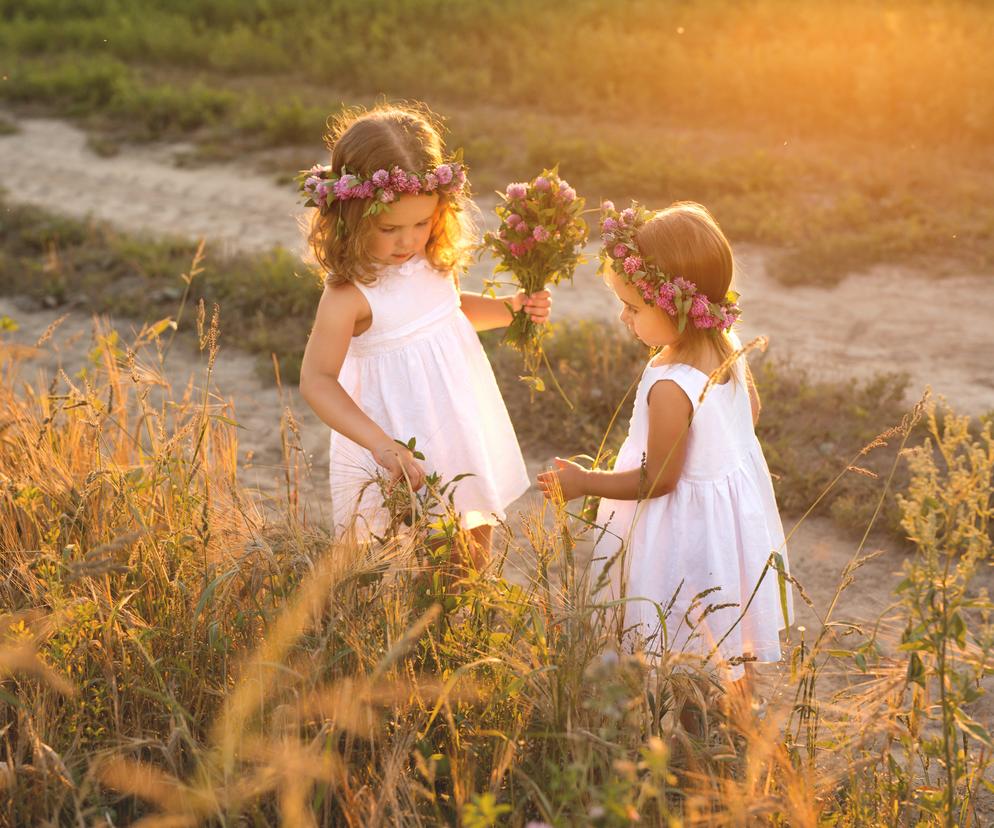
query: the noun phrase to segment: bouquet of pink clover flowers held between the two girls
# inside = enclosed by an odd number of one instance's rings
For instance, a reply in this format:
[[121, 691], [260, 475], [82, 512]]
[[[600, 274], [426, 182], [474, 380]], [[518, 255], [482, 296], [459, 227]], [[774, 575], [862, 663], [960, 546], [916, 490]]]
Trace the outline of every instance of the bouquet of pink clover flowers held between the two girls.
[[[527, 184], [509, 184], [498, 195], [501, 201], [495, 211], [500, 227], [483, 237], [483, 246], [498, 260], [494, 273], [509, 272], [526, 293], [572, 279], [577, 264], [583, 261], [581, 251], [587, 241], [587, 223], [581, 217], [584, 201], [576, 190], [553, 168], [543, 170]], [[488, 282], [491, 287], [496, 284], [495, 280]], [[545, 359], [543, 335], [522, 309], [514, 314], [503, 339], [524, 355], [529, 376], [522, 379], [535, 391], [544, 389], [536, 375]]]

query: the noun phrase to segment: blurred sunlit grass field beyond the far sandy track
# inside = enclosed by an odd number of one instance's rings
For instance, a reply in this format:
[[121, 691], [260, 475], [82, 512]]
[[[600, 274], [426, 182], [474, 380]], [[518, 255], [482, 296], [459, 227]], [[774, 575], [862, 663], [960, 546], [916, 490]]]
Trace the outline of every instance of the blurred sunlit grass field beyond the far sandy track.
[[105, 153], [188, 143], [286, 182], [346, 105], [447, 117], [478, 193], [709, 204], [786, 282], [994, 264], [986, 3], [2, 0], [0, 101]]

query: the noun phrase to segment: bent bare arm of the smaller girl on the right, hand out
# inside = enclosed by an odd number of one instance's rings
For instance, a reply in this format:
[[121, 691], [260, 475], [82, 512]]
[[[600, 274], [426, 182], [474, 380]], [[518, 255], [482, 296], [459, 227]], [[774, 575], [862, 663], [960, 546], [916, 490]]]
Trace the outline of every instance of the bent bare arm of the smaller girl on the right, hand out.
[[679, 385], [660, 380], [649, 389], [649, 440], [643, 468], [591, 471], [557, 457], [556, 468], [538, 476], [539, 489], [550, 500], [561, 497], [564, 501], [581, 495], [645, 500], [669, 494], [683, 472], [693, 410]]

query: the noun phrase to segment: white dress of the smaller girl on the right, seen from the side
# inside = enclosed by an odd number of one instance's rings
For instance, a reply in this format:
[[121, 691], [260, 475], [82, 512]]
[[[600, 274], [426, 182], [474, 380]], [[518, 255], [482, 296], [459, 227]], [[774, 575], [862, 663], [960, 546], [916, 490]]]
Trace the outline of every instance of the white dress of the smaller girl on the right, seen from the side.
[[[747, 654], [760, 662], [779, 661], [779, 631], [785, 627], [777, 572], [771, 566], [763, 576], [773, 551], [783, 556], [786, 568], [783, 526], [753, 428], [741, 360], [734, 370], [737, 382], [712, 386], [699, 403], [706, 374], [683, 364], [654, 366], [650, 362], [646, 366], [614, 469], [627, 471], [642, 465], [649, 434], [649, 391], [657, 382], [672, 380], [694, 409], [683, 472], [667, 495], [641, 502], [601, 501], [597, 523], [606, 525], [607, 531], [598, 536], [590, 580], [592, 587], [601, 580], [594, 595], [597, 601], [622, 595], [635, 599], [624, 604], [625, 628], [647, 639], [649, 651], [665, 647], [671, 652], [707, 655], [731, 628], [711, 664]], [[623, 540], [627, 548], [619, 555]], [[614, 562], [601, 577], [612, 557]], [[751, 604], [735, 625], [757, 583]], [[712, 587], [720, 589], [701, 600], [690, 612], [688, 623], [685, 616], [694, 596]], [[662, 625], [655, 604], [665, 610], [674, 594], [676, 599]], [[700, 620], [709, 604], [729, 603], [734, 606]], [[792, 623], [789, 583], [786, 610], [787, 621]], [[745, 672], [740, 664], [725, 666], [731, 680]]]

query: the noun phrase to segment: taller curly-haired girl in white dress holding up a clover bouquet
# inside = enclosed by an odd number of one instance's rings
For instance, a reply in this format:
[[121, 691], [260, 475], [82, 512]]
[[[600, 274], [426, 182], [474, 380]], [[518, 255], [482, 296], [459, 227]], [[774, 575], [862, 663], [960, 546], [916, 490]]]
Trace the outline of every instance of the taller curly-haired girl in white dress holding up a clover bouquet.
[[[549, 294], [458, 289], [473, 241], [466, 171], [443, 155], [426, 110], [350, 112], [326, 144], [330, 165], [301, 177], [315, 208], [310, 248], [326, 278], [300, 391], [332, 429], [335, 528], [360, 538], [383, 532], [388, 514], [369, 485], [378, 467], [413, 489], [428, 472], [468, 474], [454, 505], [480, 564], [492, 526], [528, 477], [475, 331], [505, 326], [522, 308], [545, 322]], [[423, 463], [398, 442], [412, 437]]]

